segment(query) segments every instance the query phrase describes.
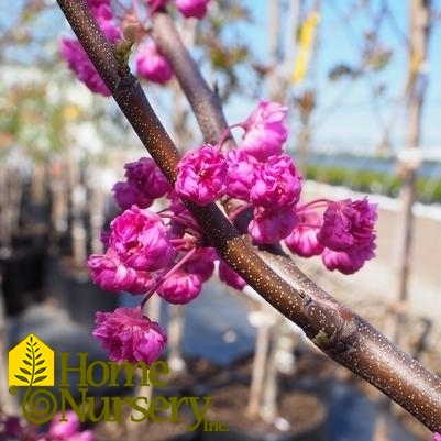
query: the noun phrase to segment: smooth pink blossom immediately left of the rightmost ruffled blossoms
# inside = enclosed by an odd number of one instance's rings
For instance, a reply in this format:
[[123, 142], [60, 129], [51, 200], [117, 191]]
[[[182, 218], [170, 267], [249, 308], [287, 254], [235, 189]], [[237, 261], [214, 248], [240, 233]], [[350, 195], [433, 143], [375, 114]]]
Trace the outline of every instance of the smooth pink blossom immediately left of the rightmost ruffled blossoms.
[[301, 256], [311, 257], [323, 252], [324, 246], [317, 240], [321, 225], [321, 216], [312, 210], [299, 216], [299, 223], [291, 233], [285, 238], [289, 251]]

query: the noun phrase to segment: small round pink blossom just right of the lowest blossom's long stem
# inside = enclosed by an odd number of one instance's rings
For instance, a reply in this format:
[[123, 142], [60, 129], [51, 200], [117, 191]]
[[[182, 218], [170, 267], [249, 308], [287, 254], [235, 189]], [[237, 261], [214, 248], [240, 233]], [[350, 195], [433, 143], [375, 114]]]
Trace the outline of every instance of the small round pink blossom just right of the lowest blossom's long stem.
[[157, 288], [157, 294], [174, 305], [185, 305], [199, 296], [202, 278], [196, 273], [176, 269]]

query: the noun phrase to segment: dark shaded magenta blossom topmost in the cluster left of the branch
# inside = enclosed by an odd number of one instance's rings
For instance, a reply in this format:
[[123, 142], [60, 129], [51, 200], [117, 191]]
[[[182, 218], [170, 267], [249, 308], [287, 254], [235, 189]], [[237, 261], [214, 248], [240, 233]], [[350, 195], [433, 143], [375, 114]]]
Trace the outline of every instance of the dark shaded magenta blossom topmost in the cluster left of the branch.
[[124, 168], [129, 185], [136, 188], [146, 198], [157, 199], [172, 190], [168, 180], [150, 157], [128, 163]]

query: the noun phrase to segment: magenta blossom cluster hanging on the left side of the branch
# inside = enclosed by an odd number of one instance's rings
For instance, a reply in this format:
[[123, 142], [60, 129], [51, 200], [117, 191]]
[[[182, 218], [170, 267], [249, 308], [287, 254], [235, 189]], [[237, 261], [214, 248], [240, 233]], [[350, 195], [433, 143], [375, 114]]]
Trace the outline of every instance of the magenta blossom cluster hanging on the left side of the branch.
[[[211, 277], [218, 256], [202, 245], [198, 225], [153, 159], [126, 164], [125, 180], [117, 183], [113, 192], [123, 211], [102, 234], [106, 253], [92, 254], [88, 267], [102, 289], [140, 295], [141, 301], [137, 308], [98, 312], [93, 335], [111, 360], [151, 365], [167, 339], [158, 323], [142, 315], [143, 305], [155, 293], [170, 304], [195, 299]], [[168, 208], [148, 209], [163, 197]], [[219, 267], [224, 282], [244, 286], [227, 265]]]

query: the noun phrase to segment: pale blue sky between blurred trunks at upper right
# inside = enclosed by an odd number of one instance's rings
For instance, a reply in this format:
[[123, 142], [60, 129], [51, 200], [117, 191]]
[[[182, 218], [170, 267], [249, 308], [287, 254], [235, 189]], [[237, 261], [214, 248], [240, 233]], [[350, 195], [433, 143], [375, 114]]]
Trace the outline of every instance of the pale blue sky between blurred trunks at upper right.
[[[264, 60], [267, 56], [268, 2], [247, 0], [255, 25], [249, 29], [256, 53]], [[312, 3], [312, 1], [306, 1]], [[381, 0], [371, 0], [366, 10], [353, 8], [356, 0], [321, 1], [321, 21], [318, 30], [317, 52], [309, 77], [294, 90], [300, 93], [307, 88], [318, 91], [318, 107], [312, 115], [312, 145], [317, 148], [342, 148], [361, 153], [374, 152], [383, 139], [385, 128], [390, 131], [390, 144], [395, 151], [405, 143], [406, 102], [404, 88], [407, 79], [408, 1], [386, 1], [390, 13], [381, 24], [374, 21]], [[258, 4], [258, 8], [255, 5]], [[441, 10], [441, 1], [433, 0], [433, 8]], [[381, 14], [378, 14], [379, 16]], [[378, 30], [382, 45], [393, 51], [389, 65], [377, 74], [356, 81], [331, 82], [329, 70], [339, 63], [355, 65], [360, 60], [362, 35]], [[434, 23], [429, 45], [429, 86], [422, 122], [423, 148], [441, 154], [441, 19]], [[383, 96], [375, 97], [374, 89], [384, 86]]]

